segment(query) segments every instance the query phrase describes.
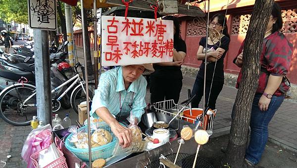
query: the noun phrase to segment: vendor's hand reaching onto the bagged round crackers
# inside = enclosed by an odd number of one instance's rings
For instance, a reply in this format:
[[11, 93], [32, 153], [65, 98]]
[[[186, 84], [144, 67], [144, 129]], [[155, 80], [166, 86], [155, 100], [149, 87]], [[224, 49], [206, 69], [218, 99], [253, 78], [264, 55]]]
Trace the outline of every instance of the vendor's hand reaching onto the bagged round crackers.
[[132, 143], [132, 131], [129, 128], [126, 128], [120, 125], [118, 122], [110, 124], [111, 131], [119, 139], [119, 144], [123, 148], [127, 148]]

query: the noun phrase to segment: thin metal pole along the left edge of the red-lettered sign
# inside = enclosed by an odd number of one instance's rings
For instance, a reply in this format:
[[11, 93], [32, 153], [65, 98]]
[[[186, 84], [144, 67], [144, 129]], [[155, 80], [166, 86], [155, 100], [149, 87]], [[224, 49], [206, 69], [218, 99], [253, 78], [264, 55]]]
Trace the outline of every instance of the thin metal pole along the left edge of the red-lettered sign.
[[97, 43], [97, 0], [94, 0], [94, 64], [95, 64], [95, 87], [98, 86], [98, 43]]

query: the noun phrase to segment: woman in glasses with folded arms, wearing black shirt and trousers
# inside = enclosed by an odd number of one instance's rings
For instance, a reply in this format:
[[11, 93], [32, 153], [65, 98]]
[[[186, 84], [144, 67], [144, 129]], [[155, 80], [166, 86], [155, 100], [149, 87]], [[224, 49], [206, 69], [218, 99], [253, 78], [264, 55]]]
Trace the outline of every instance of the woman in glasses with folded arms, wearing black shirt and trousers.
[[[225, 21], [225, 24], [224, 24]], [[230, 36], [226, 25], [227, 19], [223, 14], [216, 14], [211, 18], [209, 25], [209, 36], [207, 44], [206, 59], [206, 86], [205, 86], [205, 108], [216, 109], [215, 103], [224, 85], [224, 58], [228, 51]], [[223, 27], [224, 25], [224, 27]], [[192, 107], [198, 108], [203, 96], [204, 68], [205, 68], [205, 44], [206, 37], [201, 38], [197, 51], [197, 59], [202, 60], [192, 96], [196, 97], [192, 101]], [[215, 72], [214, 72], [215, 70]], [[212, 82], [213, 78], [213, 82]], [[211, 86], [212, 82], [212, 86]], [[211, 90], [210, 90], [211, 87]], [[210, 94], [209, 94], [210, 93]], [[209, 98], [209, 100], [208, 100]]]

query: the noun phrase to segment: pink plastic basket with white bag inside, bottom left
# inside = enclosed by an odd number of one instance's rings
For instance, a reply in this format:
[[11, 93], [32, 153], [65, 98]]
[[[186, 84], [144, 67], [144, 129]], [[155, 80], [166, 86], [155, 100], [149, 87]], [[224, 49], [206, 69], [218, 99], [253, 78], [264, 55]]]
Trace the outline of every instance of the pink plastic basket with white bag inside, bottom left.
[[[56, 146], [57, 146], [57, 144], [56, 144]], [[30, 158], [31, 158], [35, 168], [39, 168], [39, 166], [38, 166], [39, 153], [41, 151], [47, 150], [48, 148], [49, 148], [49, 146], [38, 151], [38, 152], [35, 152], [34, 154], [31, 155]], [[61, 156], [44, 168], [68, 168], [64, 154], [63, 154], [63, 152], [61, 152], [61, 143], [60, 143], [60, 146], [58, 147], [58, 150], [59, 150], [59, 153]]]

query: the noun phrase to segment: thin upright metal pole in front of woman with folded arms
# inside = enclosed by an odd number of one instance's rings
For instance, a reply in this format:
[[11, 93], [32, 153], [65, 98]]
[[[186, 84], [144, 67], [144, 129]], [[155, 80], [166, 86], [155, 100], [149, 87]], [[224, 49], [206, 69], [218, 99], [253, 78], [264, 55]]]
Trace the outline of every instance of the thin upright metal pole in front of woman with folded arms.
[[[203, 82], [203, 113], [202, 113], [202, 123], [204, 124], [204, 113], [205, 113], [205, 84], [206, 84], [206, 68], [207, 68], [207, 64], [206, 64], [206, 59], [207, 59], [207, 42], [208, 42], [208, 30], [209, 30], [209, 8], [210, 8], [210, 0], [208, 0], [208, 4], [207, 4], [207, 22], [206, 22], [206, 44], [205, 44], [205, 60], [204, 60], [204, 82]], [[209, 99], [209, 97], [208, 97]]]

